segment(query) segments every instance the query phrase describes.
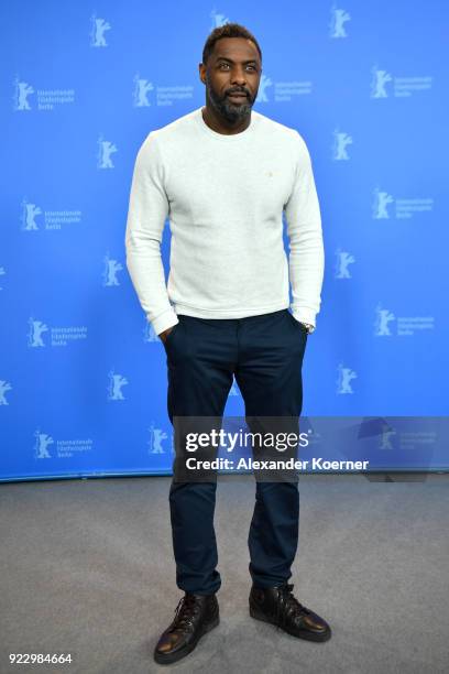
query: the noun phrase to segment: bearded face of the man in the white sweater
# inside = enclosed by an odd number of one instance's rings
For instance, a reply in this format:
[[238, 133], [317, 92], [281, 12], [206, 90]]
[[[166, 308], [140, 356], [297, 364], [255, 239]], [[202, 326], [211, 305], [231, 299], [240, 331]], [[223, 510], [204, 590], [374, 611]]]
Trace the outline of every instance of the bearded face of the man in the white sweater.
[[230, 122], [251, 113], [258, 97], [262, 64], [258, 48], [245, 37], [221, 37], [207, 66], [200, 64], [206, 100]]

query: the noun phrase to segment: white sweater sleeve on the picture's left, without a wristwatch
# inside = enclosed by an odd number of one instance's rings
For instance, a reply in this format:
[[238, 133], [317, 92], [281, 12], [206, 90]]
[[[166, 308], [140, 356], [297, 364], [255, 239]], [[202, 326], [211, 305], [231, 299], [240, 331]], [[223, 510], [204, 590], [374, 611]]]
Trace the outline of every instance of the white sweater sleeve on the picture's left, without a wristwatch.
[[168, 211], [164, 166], [158, 140], [152, 131], [135, 159], [124, 244], [131, 281], [156, 335], [178, 323], [168, 300], [161, 254]]

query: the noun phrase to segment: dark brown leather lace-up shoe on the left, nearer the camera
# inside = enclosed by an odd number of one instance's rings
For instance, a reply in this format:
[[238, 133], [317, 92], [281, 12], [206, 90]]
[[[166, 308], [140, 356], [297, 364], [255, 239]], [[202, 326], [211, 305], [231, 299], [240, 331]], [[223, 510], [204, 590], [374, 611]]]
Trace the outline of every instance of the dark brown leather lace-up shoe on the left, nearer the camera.
[[220, 622], [216, 595], [185, 593], [176, 609], [175, 618], [161, 634], [154, 650], [158, 664], [172, 664], [190, 653], [202, 634]]

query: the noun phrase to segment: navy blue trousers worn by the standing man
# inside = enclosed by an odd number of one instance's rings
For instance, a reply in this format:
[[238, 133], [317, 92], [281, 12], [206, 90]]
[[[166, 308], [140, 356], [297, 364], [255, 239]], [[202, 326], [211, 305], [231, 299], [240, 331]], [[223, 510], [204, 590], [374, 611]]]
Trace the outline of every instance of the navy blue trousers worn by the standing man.
[[[300, 415], [307, 331], [288, 309], [232, 319], [178, 314], [178, 319], [164, 343], [172, 424], [174, 416], [222, 416], [233, 376], [247, 416]], [[207, 595], [221, 586], [213, 528], [216, 489], [217, 482], [172, 480], [176, 584], [185, 591]], [[254, 585], [288, 580], [298, 530], [297, 481], [256, 481], [248, 536]]]

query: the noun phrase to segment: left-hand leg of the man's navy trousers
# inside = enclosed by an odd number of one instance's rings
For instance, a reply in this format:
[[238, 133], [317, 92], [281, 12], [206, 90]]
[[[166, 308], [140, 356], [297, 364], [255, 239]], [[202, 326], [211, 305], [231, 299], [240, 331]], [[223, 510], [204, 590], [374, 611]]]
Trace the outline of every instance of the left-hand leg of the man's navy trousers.
[[[167, 410], [176, 416], [220, 418], [233, 371], [233, 333], [220, 320], [178, 315], [179, 324], [165, 345], [168, 368]], [[175, 422], [175, 423], [174, 423]], [[184, 459], [185, 453], [176, 456]], [[176, 471], [175, 471], [176, 472]], [[221, 586], [213, 526], [217, 482], [175, 481], [169, 489], [176, 584], [196, 594], [211, 594]]]

